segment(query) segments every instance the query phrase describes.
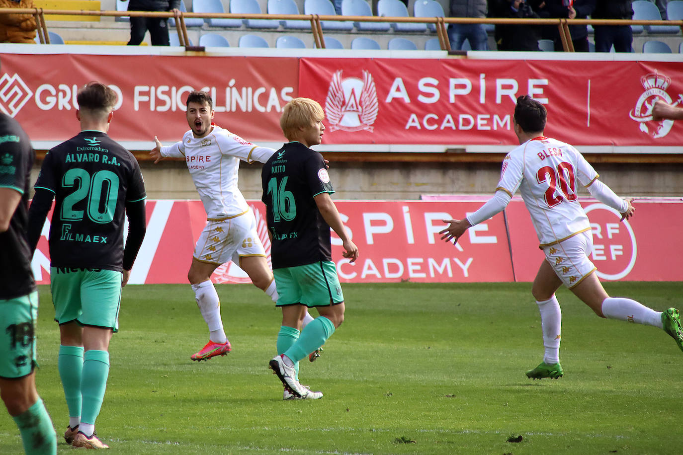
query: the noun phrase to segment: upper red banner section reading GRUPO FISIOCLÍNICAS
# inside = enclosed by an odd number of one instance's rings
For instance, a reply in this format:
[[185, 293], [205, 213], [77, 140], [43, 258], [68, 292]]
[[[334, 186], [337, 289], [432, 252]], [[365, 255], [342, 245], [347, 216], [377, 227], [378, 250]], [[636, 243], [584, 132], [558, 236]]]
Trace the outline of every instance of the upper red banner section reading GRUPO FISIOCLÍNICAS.
[[[0, 111], [32, 141], [66, 141], [78, 132], [76, 91], [98, 80], [119, 96], [109, 134], [154, 144], [189, 130], [185, 101], [207, 90], [214, 121], [249, 141], [282, 142], [282, 107], [297, 96], [298, 60], [281, 57], [2, 54]], [[255, 128], [257, 126], [257, 128]]]

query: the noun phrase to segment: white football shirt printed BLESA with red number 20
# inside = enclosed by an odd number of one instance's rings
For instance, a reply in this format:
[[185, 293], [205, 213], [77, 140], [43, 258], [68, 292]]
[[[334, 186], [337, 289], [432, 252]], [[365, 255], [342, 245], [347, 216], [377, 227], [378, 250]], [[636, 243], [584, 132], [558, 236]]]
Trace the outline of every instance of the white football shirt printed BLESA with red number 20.
[[576, 188], [596, 179], [598, 173], [578, 150], [540, 136], [505, 156], [496, 190], [511, 197], [520, 190], [541, 246], [546, 246], [590, 229]]

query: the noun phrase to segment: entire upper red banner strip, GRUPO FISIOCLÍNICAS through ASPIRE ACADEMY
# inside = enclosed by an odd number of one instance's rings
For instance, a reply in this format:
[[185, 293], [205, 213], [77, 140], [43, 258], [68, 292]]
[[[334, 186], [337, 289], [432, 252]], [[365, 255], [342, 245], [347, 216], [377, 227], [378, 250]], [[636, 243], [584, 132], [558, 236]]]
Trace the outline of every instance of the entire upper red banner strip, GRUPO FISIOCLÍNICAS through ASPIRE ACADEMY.
[[280, 143], [281, 108], [306, 96], [325, 108], [324, 145], [516, 145], [512, 111], [516, 97], [529, 93], [548, 108], [548, 136], [568, 143], [683, 143], [683, 123], [650, 117], [657, 98], [683, 103], [680, 62], [499, 60], [496, 54], [491, 59], [1, 54], [0, 111], [22, 123], [31, 140], [56, 145], [76, 131], [78, 87], [100, 80], [120, 95], [110, 130], [117, 141], [151, 145], [155, 135], [177, 141], [188, 129], [187, 93], [206, 89], [217, 124], [255, 143]]

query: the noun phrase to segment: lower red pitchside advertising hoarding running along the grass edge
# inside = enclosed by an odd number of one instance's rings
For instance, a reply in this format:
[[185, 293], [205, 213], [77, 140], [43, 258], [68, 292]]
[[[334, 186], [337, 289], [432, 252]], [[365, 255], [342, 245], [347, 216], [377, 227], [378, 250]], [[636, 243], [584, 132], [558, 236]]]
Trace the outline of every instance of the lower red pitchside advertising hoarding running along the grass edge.
[[[360, 257], [342, 258], [342, 241], [333, 233], [333, 261], [342, 282], [512, 282], [532, 281], [543, 260], [524, 204], [515, 198], [505, 217], [498, 214], [469, 229], [458, 244], [441, 241], [443, 220], [462, 218], [482, 205], [460, 196], [434, 201], [336, 201]], [[605, 205], [584, 201], [593, 227], [591, 261], [604, 280], [682, 280], [683, 254], [677, 226], [683, 203], [636, 201], [636, 216], [619, 222]], [[257, 229], [270, 253], [265, 209], [251, 201]], [[130, 284], [184, 283], [195, 240], [206, 223], [200, 201], [148, 201], [148, 229], [130, 274]], [[505, 226], [507, 218], [507, 229]], [[33, 256], [33, 274], [49, 282], [48, 215]], [[270, 257], [268, 257], [270, 260]], [[233, 263], [221, 265], [214, 282], [248, 283]]]

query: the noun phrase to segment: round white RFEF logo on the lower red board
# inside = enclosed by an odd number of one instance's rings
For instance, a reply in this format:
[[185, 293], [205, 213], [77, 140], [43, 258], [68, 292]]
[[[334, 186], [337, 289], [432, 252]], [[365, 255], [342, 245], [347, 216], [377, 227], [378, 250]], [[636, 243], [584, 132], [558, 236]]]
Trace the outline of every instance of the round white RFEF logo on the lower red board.
[[584, 207], [591, 220], [593, 251], [590, 259], [598, 267], [603, 280], [621, 280], [628, 276], [636, 263], [638, 247], [636, 236], [622, 215], [602, 203]]

